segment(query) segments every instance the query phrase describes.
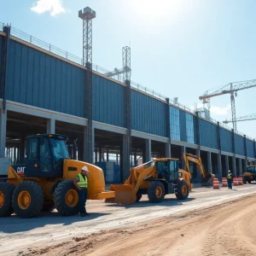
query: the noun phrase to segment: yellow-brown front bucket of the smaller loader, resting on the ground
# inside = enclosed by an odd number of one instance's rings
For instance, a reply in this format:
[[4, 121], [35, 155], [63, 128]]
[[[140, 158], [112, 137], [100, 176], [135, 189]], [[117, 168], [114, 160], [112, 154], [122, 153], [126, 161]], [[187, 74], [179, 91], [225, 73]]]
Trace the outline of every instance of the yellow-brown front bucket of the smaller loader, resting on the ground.
[[134, 188], [131, 185], [111, 185], [109, 190], [115, 191], [115, 197], [106, 198], [105, 203], [131, 205], [137, 200]]

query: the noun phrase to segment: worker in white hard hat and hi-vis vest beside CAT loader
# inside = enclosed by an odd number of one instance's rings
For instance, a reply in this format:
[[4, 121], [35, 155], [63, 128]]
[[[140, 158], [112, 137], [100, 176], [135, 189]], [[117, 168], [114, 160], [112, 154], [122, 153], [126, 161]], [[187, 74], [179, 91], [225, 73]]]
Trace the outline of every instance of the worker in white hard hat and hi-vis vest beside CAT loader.
[[87, 199], [87, 176], [88, 176], [88, 168], [87, 166], [82, 167], [81, 172], [77, 175], [74, 180], [73, 184], [79, 190], [79, 208], [80, 208], [80, 215], [84, 217], [89, 213], [86, 212], [85, 203]]

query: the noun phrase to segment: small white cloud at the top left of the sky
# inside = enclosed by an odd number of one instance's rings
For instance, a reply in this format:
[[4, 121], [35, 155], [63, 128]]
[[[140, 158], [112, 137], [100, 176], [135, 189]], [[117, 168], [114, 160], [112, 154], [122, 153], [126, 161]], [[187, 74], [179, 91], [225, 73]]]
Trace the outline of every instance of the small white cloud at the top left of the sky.
[[49, 12], [51, 16], [66, 13], [61, 0], [38, 0], [31, 10], [39, 15]]

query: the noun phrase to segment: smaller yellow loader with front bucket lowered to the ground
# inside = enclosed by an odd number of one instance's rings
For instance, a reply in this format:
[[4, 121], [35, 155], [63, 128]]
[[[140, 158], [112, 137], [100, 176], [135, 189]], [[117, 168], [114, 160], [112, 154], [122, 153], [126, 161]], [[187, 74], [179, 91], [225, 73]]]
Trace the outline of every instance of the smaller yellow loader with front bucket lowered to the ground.
[[175, 194], [177, 199], [184, 200], [189, 196], [190, 173], [179, 170], [179, 161], [173, 158], [154, 159], [141, 166], [131, 167], [131, 175], [122, 185], [111, 185], [115, 197], [105, 200], [106, 203], [130, 205], [140, 201], [142, 195], [158, 203], [165, 195]]

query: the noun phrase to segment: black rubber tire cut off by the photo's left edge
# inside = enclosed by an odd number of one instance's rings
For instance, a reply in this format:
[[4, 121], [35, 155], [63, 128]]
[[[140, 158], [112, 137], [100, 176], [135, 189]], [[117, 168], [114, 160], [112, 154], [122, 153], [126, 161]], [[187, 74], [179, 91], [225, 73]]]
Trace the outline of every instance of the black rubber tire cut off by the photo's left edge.
[[9, 217], [13, 212], [12, 196], [15, 186], [10, 183], [0, 183], [0, 191], [4, 195], [3, 207], [0, 208], [0, 217]]

